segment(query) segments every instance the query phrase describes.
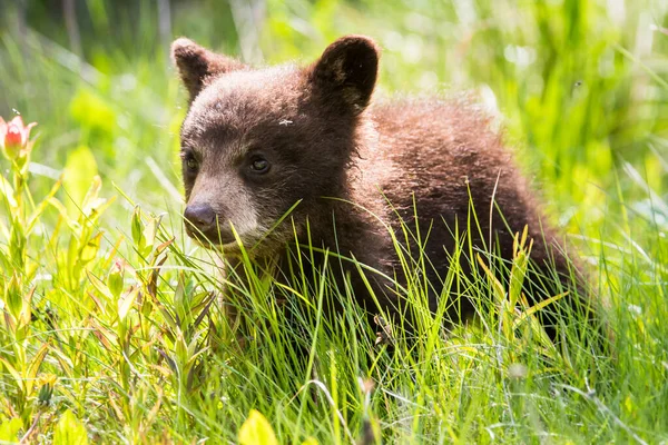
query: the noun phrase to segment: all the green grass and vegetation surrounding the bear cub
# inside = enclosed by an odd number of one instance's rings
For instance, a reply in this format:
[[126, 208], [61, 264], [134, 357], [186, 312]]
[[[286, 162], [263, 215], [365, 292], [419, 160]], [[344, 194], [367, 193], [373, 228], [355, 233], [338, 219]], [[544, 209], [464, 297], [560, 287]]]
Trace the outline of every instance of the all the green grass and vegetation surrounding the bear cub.
[[[0, 116], [38, 122], [22, 165], [0, 158], [0, 443], [668, 443], [666, 1], [0, 10]], [[186, 95], [168, 46], [307, 62], [348, 32], [383, 48], [377, 95], [468, 91], [498, 118], [589, 267], [610, 354], [574, 332], [559, 347], [527, 335], [519, 296], [488, 276], [466, 281], [479, 323], [449, 333], [412, 283], [418, 340], [392, 354], [326, 276], [294, 291], [258, 279], [238, 291], [252, 338], [237, 344], [214, 255], [183, 230]], [[278, 315], [282, 293], [310, 301], [294, 308], [303, 332]], [[328, 298], [346, 307], [337, 323], [318, 316]]]

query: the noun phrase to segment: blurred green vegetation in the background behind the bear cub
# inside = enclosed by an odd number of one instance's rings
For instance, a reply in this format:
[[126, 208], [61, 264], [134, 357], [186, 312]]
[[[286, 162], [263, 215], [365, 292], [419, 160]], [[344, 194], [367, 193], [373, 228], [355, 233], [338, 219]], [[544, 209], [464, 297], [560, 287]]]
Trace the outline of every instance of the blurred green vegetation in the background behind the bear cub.
[[69, 169], [65, 188], [75, 201], [99, 172], [109, 194], [112, 181], [155, 211], [180, 205], [186, 97], [168, 57], [175, 37], [262, 65], [308, 62], [355, 32], [383, 48], [377, 93], [468, 91], [498, 116], [552, 215], [571, 231], [596, 234], [607, 212], [626, 208], [668, 218], [651, 205], [668, 181], [665, 0], [0, 6], [0, 116], [18, 110], [39, 122], [33, 172], [47, 187]]

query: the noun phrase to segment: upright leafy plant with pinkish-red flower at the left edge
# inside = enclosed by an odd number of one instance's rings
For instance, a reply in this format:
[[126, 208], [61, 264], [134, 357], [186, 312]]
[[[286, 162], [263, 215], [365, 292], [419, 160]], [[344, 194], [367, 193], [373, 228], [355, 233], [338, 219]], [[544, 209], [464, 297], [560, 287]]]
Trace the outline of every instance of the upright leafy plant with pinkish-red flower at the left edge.
[[[2, 299], [0, 300], [0, 364], [13, 378], [9, 392], [9, 406], [21, 419], [30, 425], [36, 409], [32, 399], [39, 390], [37, 375], [49, 345], [42, 343], [31, 350], [30, 324], [32, 322], [33, 279], [37, 263], [28, 255], [28, 238], [45, 210], [45, 201], [36, 204], [27, 187], [28, 165], [32, 152], [30, 129], [36, 123], [23, 125], [20, 116], [6, 122], [0, 118], [0, 149], [11, 166], [10, 184], [1, 177], [0, 192], [2, 207], [9, 210], [9, 227], [0, 226], [6, 248], [0, 249], [0, 263], [4, 273], [0, 276]], [[57, 189], [57, 187], [55, 187]], [[49, 199], [48, 197], [47, 199]], [[45, 403], [48, 404], [48, 398]]]

